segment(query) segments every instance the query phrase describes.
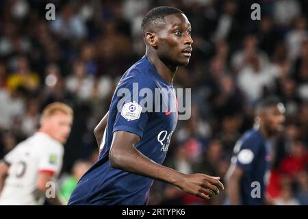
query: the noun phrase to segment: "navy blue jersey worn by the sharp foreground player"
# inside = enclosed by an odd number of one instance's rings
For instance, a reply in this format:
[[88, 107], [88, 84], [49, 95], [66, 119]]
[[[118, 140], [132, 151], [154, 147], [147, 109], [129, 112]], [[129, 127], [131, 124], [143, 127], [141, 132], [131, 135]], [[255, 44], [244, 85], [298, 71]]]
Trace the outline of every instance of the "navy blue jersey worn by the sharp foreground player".
[[153, 179], [110, 166], [115, 131], [140, 136], [136, 149], [162, 164], [177, 125], [177, 98], [172, 84], [144, 55], [123, 75], [110, 105], [98, 161], [77, 183], [69, 205], [146, 205]]

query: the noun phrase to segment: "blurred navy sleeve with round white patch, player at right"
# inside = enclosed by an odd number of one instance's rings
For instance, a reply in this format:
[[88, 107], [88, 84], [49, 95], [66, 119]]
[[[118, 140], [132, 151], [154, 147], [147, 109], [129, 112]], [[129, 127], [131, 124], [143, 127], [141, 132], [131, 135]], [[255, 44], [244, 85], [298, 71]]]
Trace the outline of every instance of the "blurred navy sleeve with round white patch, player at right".
[[253, 168], [255, 157], [259, 153], [259, 141], [255, 138], [248, 138], [242, 142], [240, 151], [236, 155], [236, 165], [249, 172]]

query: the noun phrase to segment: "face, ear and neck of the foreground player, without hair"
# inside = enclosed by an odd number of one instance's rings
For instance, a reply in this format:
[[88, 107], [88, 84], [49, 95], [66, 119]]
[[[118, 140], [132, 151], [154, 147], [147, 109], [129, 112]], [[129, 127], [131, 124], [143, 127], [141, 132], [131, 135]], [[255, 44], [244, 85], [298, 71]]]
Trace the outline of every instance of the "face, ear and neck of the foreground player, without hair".
[[146, 56], [157, 73], [172, 83], [177, 68], [189, 63], [193, 43], [190, 36], [192, 27], [185, 14], [165, 16], [165, 21], [159, 27], [149, 27], [144, 33]]

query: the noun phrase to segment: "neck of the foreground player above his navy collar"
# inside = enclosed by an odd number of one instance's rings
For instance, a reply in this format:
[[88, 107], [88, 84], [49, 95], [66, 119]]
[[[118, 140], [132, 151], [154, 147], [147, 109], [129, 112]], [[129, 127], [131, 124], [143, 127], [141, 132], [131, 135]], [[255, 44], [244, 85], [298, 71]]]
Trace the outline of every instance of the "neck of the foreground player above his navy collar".
[[146, 57], [148, 57], [149, 62], [151, 62], [156, 69], [157, 73], [162, 76], [168, 83], [172, 83], [173, 77], [177, 71], [177, 66], [172, 66], [171, 64], [165, 64], [159, 59], [156, 53], [146, 51]]

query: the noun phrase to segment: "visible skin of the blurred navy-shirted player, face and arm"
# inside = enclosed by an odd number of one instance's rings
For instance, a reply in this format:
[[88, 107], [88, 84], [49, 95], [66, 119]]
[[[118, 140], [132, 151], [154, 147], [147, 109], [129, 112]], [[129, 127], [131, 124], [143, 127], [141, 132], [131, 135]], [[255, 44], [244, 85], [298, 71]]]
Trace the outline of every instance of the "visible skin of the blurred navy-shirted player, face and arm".
[[[281, 105], [262, 110], [258, 118], [259, 131], [265, 139], [272, 138], [276, 133], [283, 130], [285, 115]], [[244, 170], [239, 166], [231, 166], [228, 171], [228, 193], [231, 205], [240, 205], [240, 180], [244, 173]]]

